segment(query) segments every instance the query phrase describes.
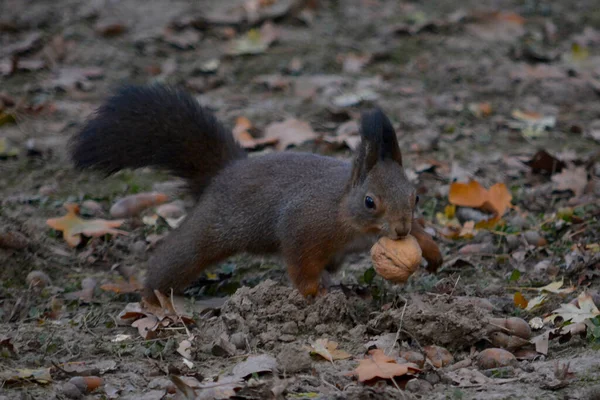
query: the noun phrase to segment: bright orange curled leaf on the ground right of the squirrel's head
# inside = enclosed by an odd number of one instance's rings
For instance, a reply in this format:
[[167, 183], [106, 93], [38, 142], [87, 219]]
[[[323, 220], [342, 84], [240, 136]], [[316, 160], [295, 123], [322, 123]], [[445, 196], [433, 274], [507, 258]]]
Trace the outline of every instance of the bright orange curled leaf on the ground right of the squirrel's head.
[[457, 206], [481, 208], [502, 216], [511, 207], [512, 195], [504, 183], [497, 183], [486, 190], [477, 181], [453, 182], [448, 200]]

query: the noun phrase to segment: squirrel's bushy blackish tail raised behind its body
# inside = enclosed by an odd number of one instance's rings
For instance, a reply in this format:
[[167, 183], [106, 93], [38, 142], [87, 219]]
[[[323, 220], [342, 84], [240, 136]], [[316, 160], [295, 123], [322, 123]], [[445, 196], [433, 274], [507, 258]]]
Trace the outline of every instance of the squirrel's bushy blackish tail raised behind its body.
[[160, 167], [186, 179], [197, 196], [225, 165], [246, 157], [230, 131], [191, 95], [161, 85], [122, 87], [70, 145], [79, 168], [111, 174]]

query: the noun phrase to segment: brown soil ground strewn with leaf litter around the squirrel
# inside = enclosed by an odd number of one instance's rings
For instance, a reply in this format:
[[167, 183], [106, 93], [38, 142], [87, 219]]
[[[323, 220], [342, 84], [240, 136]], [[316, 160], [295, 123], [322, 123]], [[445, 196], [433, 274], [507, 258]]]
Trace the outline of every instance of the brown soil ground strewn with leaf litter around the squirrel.
[[[529, 322], [584, 292], [600, 304], [596, 1], [1, 4], [0, 399], [77, 398], [83, 394], [70, 379], [85, 375], [103, 380], [86, 398], [185, 396], [185, 384], [176, 390], [170, 376], [204, 385], [233, 377], [236, 398], [600, 397], [593, 308], [583, 334], [559, 335], [547, 352], [509, 346], [517, 359], [508, 365], [478, 363], [478, 352], [493, 347], [490, 318]], [[256, 54], [240, 54], [233, 41], [244, 35], [254, 38]], [[174, 318], [142, 338], [120, 319], [139, 294], [100, 286], [143, 279], [154, 241], [172, 228], [142, 218], [152, 208], [126, 219], [128, 235], [72, 248], [46, 221], [62, 216], [65, 203], [85, 201], [84, 217], [110, 219], [117, 199], [150, 190], [191, 210], [193, 199], [164, 172], [104, 177], [69, 161], [68, 138], [111, 90], [147, 82], [183, 86], [227, 126], [247, 118], [256, 136], [289, 118], [308, 122], [310, 140], [290, 130], [277, 132], [279, 143], [340, 158], [350, 158], [356, 143], [351, 121], [379, 105], [398, 130], [443, 267], [392, 285], [373, 278], [368, 254], [356, 255], [337, 276], [341, 286], [307, 300], [280, 260], [240, 255], [187, 291], [177, 313], [191, 307], [185, 312], [195, 323]], [[540, 150], [545, 158], [534, 157]], [[257, 146], [251, 155], [269, 151], [279, 149]], [[451, 184], [469, 179], [508, 188], [512, 208], [496, 226], [472, 232], [469, 221], [487, 215], [474, 208], [459, 207], [453, 219]], [[32, 271], [41, 271], [37, 280]], [[531, 288], [561, 279], [564, 286], [547, 291], [538, 307], [523, 309], [515, 297], [531, 301], [539, 295]], [[93, 289], [82, 295], [82, 285]], [[532, 337], [551, 329], [546, 322]], [[325, 338], [352, 358], [310, 356], [306, 346]], [[185, 340], [191, 363], [177, 352]], [[431, 356], [410, 382], [348, 375], [370, 348], [402, 363], [407, 351], [432, 345], [453, 361], [440, 367]], [[257, 367], [252, 356], [261, 354], [276, 365]], [[244, 375], [247, 357], [255, 361]], [[194, 398], [187, 396], [180, 398]]]

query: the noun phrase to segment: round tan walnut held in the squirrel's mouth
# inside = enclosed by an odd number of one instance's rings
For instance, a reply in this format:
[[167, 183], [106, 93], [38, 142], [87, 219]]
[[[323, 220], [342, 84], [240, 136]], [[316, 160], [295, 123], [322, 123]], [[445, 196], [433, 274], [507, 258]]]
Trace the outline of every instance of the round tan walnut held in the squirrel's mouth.
[[413, 236], [402, 240], [383, 237], [371, 248], [371, 259], [375, 271], [394, 283], [408, 280], [421, 264], [422, 252]]

